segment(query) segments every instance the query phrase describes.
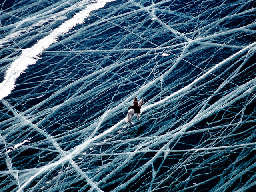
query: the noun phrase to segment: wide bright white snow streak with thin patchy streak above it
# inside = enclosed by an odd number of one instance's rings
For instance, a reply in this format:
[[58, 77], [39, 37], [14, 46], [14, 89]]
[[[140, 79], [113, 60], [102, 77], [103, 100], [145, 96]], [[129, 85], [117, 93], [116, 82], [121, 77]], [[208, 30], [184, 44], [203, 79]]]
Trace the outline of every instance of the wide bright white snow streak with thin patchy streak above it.
[[[20, 76], [20, 74], [24, 70], [26, 70], [26, 68], [29, 65], [35, 64], [36, 61], [39, 59], [39, 55], [52, 43], [56, 42], [60, 34], [67, 33], [71, 28], [74, 28], [77, 24], [83, 23], [84, 19], [86, 17], [89, 17], [90, 12], [104, 7], [104, 5], [107, 2], [111, 1], [113, 0], [100, 0], [98, 2], [88, 5], [87, 8], [75, 14], [73, 18], [66, 20], [58, 28], [52, 30], [52, 32], [48, 36], [38, 40], [38, 42], [34, 46], [22, 49], [22, 54], [10, 65], [10, 67], [6, 71], [4, 81], [0, 83], [0, 100], [11, 93], [11, 91], [15, 88], [15, 81]], [[40, 24], [42, 24], [42, 21], [40, 21]], [[22, 32], [26, 32], [27, 30], [29, 30], [30, 28], [34, 28], [35, 26], [36, 25], [29, 27], [26, 30], [22, 30]], [[11, 34], [7, 38], [13, 38], [15, 36], [18, 36], [19, 33], [21, 32], [15, 32], [14, 35]]]

